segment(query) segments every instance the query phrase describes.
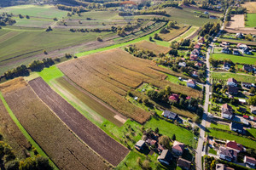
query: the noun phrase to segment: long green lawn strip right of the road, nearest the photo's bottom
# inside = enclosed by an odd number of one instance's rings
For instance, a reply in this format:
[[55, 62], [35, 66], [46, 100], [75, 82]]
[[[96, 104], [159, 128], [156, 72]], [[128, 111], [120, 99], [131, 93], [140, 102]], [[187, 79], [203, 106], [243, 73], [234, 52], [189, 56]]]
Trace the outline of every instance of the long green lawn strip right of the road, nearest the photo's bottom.
[[215, 137], [217, 139], [225, 139], [225, 140], [236, 140], [238, 144], [243, 144], [246, 147], [256, 149], [256, 141], [251, 139], [247, 139], [245, 137], [237, 136], [231, 133], [226, 133], [218, 130], [209, 129], [209, 135]]

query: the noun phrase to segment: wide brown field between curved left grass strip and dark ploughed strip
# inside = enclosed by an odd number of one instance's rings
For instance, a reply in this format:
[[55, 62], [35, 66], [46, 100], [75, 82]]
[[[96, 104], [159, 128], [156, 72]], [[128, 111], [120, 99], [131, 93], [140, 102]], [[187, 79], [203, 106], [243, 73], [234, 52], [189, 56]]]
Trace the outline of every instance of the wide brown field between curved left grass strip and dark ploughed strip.
[[77, 170], [110, 168], [44, 105], [23, 78], [1, 84], [0, 90], [21, 125], [57, 167]]

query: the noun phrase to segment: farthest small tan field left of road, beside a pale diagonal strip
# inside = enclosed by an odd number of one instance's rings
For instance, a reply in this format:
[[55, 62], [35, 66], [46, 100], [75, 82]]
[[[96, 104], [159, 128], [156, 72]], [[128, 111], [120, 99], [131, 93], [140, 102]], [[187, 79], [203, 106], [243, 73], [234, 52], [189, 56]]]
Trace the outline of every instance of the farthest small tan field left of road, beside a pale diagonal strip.
[[164, 41], [169, 42], [175, 37], [180, 36], [183, 34], [185, 31], [188, 31], [190, 26], [180, 26], [177, 29], [171, 29], [169, 30], [169, 33], [166, 34], [159, 34], [160, 38], [162, 38]]

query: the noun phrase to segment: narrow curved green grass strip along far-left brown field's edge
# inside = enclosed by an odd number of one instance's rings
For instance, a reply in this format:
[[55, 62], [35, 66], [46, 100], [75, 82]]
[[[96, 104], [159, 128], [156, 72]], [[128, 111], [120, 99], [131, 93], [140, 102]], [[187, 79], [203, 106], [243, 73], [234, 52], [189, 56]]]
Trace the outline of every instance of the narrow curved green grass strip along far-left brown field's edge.
[[32, 136], [29, 133], [27, 133], [26, 129], [21, 125], [21, 123], [19, 122], [19, 120], [17, 119], [17, 117], [15, 116], [13, 111], [9, 108], [9, 105], [7, 104], [6, 100], [3, 97], [3, 94], [1, 92], [0, 92], [0, 99], [3, 102], [3, 105], [4, 105], [5, 109], [6, 109], [6, 111], [8, 111], [9, 116], [15, 122], [17, 127], [19, 127], [21, 133], [23, 133], [23, 135], [26, 137], [26, 139], [38, 150], [38, 153], [41, 156], [45, 156], [45, 157], [49, 158], [49, 162], [54, 167], [55, 170], [59, 170], [59, 167], [57, 167], [55, 165], [55, 163], [50, 159], [50, 157], [47, 156], [47, 154], [44, 152], [44, 150], [39, 146], [39, 144], [37, 144], [37, 142], [32, 138]]

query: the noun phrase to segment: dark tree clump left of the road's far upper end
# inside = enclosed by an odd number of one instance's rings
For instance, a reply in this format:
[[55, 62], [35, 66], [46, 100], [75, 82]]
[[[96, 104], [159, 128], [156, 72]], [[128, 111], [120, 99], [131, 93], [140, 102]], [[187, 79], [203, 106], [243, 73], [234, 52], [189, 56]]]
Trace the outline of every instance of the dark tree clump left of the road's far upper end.
[[220, 29], [219, 23], [206, 23], [202, 28], [201, 31], [198, 32], [198, 35], [201, 37], [205, 37], [207, 34], [209, 36], [216, 36]]

